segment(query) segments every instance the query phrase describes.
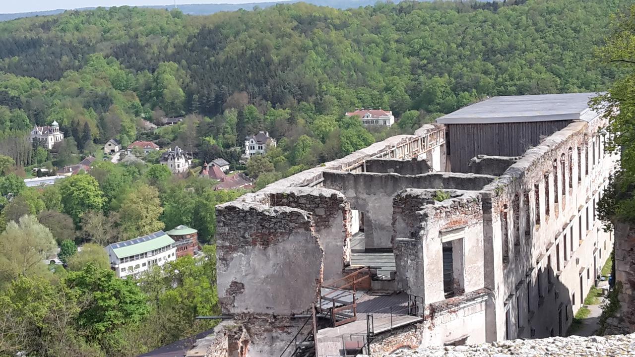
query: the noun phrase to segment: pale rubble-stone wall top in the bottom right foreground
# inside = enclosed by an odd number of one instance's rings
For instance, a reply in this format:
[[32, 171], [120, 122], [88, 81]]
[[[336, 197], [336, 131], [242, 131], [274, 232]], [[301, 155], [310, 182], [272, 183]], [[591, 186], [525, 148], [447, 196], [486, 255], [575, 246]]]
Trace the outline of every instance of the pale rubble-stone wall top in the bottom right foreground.
[[[549, 337], [535, 340], [505, 340], [465, 346], [434, 346], [402, 349], [373, 357], [595, 357], [635, 356], [635, 333], [591, 337]], [[367, 357], [367, 356], [364, 356]]]

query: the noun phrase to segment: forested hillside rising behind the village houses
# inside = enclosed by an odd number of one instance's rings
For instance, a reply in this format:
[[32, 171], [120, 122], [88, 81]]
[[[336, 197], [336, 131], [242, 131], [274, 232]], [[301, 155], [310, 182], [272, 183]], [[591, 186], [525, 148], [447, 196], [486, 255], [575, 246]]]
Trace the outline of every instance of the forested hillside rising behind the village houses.
[[[593, 63], [593, 49], [626, 3], [298, 3], [206, 17], [124, 7], [3, 22], [0, 131], [23, 132], [8, 119], [18, 111], [39, 125], [57, 119], [67, 133], [87, 124], [97, 144], [130, 142], [140, 118], [201, 114], [180, 141], [188, 150], [211, 159], [269, 130], [285, 138], [284, 174], [374, 140], [363, 128], [344, 132], [342, 114], [355, 107], [417, 111], [398, 130], [371, 130], [382, 138], [486, 96], [604, 90], [615, 73]], [[147, 138], [171, 144], [179, 135]], [[309, 161], [293, 154], [300, 137]], [[18, 144], [0, 151], [33, 163]]]

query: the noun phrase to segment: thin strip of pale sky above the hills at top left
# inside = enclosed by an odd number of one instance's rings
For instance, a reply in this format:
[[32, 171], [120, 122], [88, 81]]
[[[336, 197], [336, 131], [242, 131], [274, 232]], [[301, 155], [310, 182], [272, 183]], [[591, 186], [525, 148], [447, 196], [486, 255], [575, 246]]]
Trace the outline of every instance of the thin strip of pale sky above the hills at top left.
[[[269, 0], [177, 0], [177, 4], [206, 4], [206, 3], [260, 3]], [[170, 5], [174, 0], [0, 0], [0, 13], [22, 13], [30, 11], [93, 8], [96, 6], [123, 5]]]

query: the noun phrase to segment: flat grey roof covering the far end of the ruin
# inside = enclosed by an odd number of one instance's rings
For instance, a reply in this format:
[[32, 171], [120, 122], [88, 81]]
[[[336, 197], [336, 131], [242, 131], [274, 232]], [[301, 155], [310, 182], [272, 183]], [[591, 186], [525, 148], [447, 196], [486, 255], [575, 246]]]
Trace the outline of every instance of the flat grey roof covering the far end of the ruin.
[[597, 93], [510, 95], [492, 97], [437, 119], [440, 124], [521, 123], [530, 121], [591, 121], [599, 113], [589, 108]]

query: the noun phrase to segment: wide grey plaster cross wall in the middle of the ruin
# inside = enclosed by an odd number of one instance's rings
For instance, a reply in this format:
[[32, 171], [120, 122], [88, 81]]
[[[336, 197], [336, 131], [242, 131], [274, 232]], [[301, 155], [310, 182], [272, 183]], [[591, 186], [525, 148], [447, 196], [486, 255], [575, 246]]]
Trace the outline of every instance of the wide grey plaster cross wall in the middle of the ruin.
[[326, 170], [324, 187], [340, 191], [351, 208], [364, 212], [366, 248], [391, 248], [392, 212], [389, 203], [406, 188], [478, 190], [495, 177], [473, 173], [345, 173]]

